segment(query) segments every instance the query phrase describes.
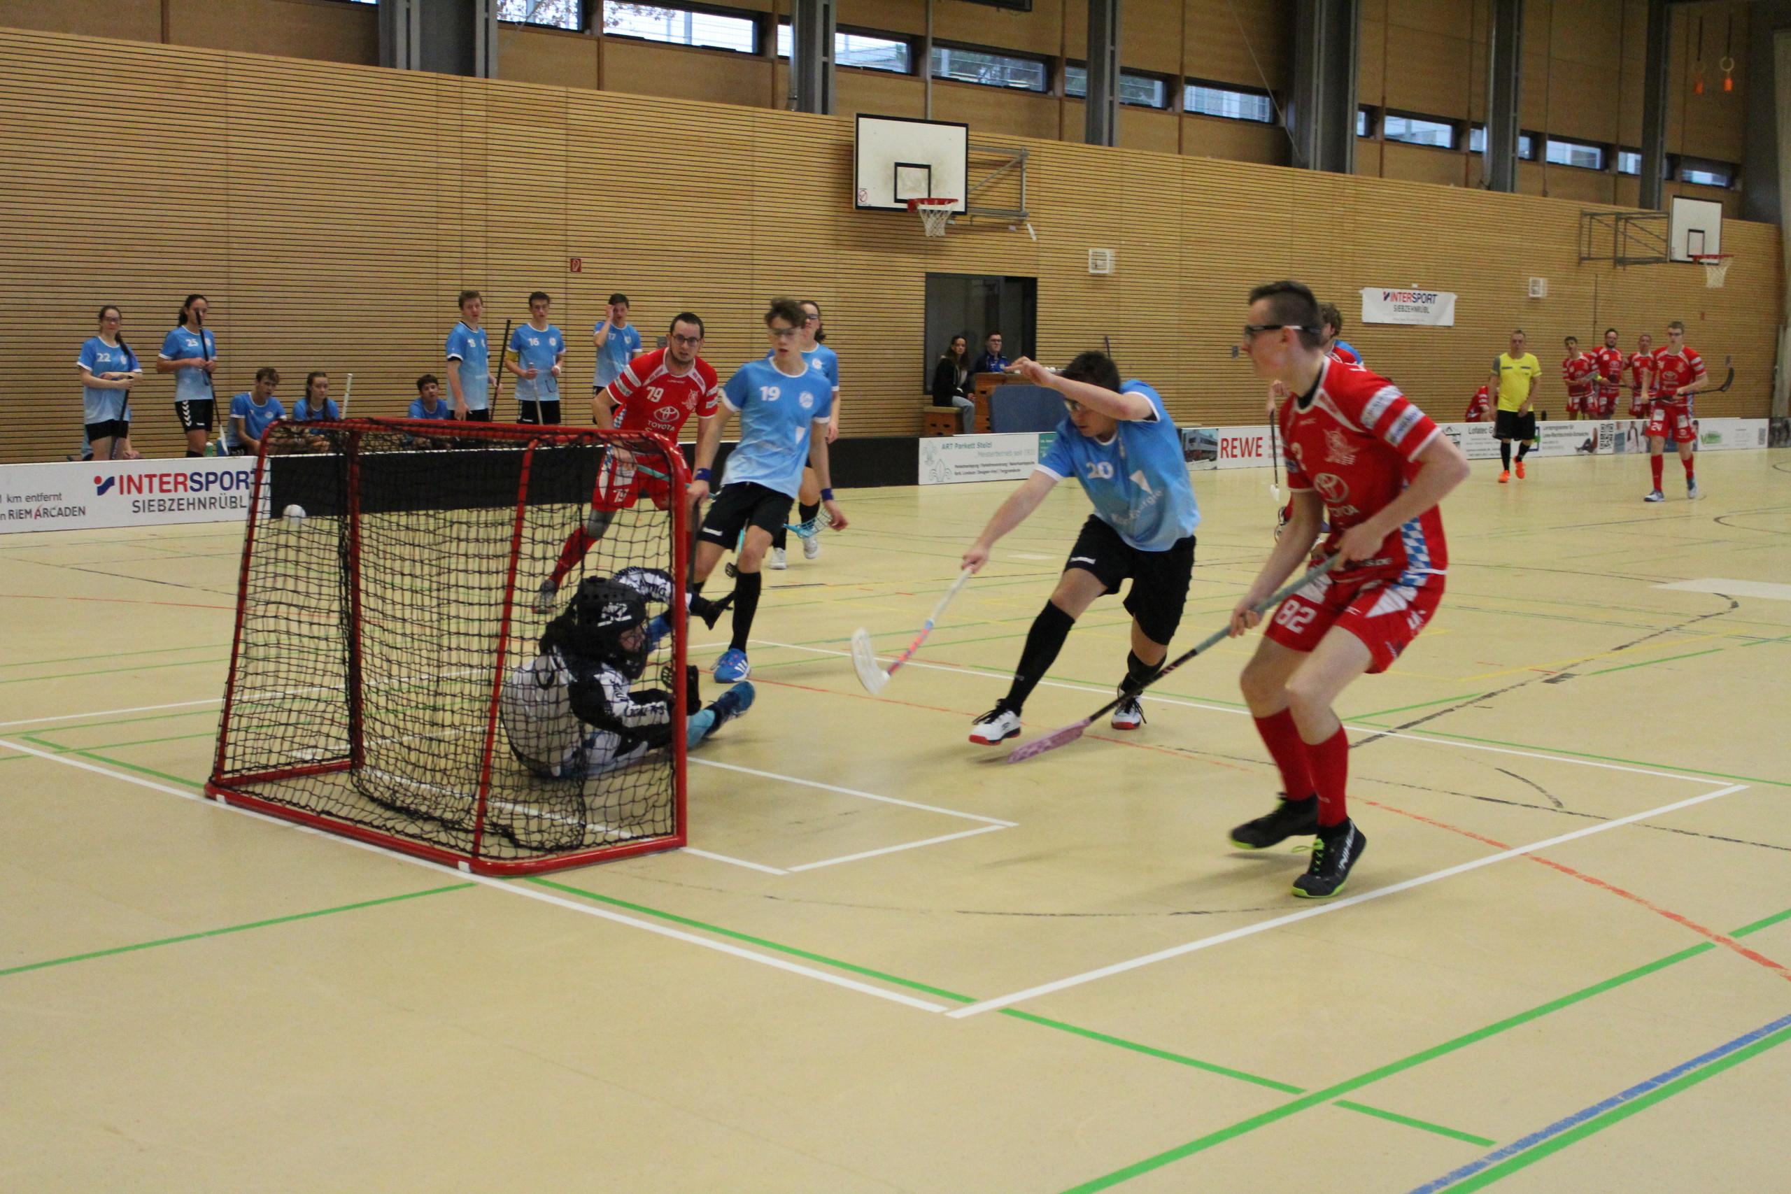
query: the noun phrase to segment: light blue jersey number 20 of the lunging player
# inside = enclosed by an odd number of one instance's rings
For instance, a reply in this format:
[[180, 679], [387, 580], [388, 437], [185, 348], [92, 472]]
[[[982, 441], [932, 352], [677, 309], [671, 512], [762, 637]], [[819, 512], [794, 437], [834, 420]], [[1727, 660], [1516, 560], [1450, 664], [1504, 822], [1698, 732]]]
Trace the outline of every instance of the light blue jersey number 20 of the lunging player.
[[1187, 483], [1182, 433], [1162, 399], [1143, 381], [1127, 381], [1123, 394], [1150, 399], [1155, 419], [1121, 422], [1105, 444], [1076, 430], [1064, 415], [1057, 442], [1037, 469], [1057, 480], [1075, 476], [1094, 503], [1094, 516], [1139, 551], [1168, 551], [1200, 526], [1195, 487]]

